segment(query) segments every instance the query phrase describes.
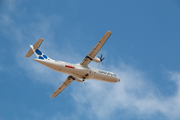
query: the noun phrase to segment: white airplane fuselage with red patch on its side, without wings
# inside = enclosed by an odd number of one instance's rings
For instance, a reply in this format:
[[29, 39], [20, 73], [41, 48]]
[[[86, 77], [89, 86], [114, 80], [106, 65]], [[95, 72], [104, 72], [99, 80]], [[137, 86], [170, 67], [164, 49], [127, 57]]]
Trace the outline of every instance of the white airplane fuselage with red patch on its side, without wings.
[[[112, 72], [92, 69], [89, 67], [83, 67], [80, 64], [71, 64], [62, 61], [55, 60], [41, 60], [35, 59], [35, 61], [61, 73], [66, 73], [79, 78], [79, 82], [85, 79], [95, 79], [104, 82], [115, 83], [120, 79]], [[80, 80], [81, 79], [81, 80]]]

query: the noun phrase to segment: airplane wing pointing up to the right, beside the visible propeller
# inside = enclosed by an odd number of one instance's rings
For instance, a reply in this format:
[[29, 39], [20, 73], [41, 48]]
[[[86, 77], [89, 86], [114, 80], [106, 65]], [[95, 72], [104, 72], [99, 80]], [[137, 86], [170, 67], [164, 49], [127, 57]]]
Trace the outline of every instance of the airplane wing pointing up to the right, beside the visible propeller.
[[102, 48], [104, 43], [107, 41], [109, 36], [111, 35], [111, 31], [107, 31], [104, 36], [99, 40], [96, 46], [91, 50], [91, 52], [84, 58], [84, 60], [80, 63], [80, 65], [86, 67], [91, 62], [92, 58], [94, 58], [99, 50]]

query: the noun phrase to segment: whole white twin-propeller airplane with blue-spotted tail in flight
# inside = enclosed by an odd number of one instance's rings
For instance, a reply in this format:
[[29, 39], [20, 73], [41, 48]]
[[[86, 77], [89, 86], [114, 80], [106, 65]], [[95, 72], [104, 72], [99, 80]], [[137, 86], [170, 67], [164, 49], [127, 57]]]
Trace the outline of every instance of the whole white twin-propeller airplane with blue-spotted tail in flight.
[[88, 64], [91, 61], [100, 63], [104, 60], [102, 54], [100, 57], [96, 57], [99, 50], [102, 48], [104, 43], [107, 41], [111, 35], [110, 31], [107, 31], [104, 36], [99, 40], [96, 46], [91, 50], [91, 52], [83, 59], [80, 64], [72, 64], [63, 61], [56, 61], [49, 58], [47, 55], [39, 50], [43, 39], [40, 38], [34, 45], [30, 45], [31, 49], [28, 51], [25, 57], [30, 57], [33, 53], [37, 56], [34, 60], [57, 71], [69, 74], [67, 79], [58, 87], [58, 89], [50, 96], [56, 97], [61, 91], [63, 91], [69, 84], [73, 81], [83, 82], [86, 79], [95, 79], [104, 82], [115, 83], [119, 82], [120, 79], [112, 72], [107, 72], [103, 70], [97, 70], [90, 68]]

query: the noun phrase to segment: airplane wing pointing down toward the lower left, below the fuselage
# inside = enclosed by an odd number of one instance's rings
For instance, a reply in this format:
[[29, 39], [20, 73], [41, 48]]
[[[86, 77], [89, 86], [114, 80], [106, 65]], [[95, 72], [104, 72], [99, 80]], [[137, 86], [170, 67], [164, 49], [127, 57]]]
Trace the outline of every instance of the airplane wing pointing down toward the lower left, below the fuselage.
[[58, 87], [58, 89], [50, 96], [56, 97], [60, 92], [62, 92], [68, 85], [70, 85], [73, 81], [73, 77], [70, 75], [67, 79]]

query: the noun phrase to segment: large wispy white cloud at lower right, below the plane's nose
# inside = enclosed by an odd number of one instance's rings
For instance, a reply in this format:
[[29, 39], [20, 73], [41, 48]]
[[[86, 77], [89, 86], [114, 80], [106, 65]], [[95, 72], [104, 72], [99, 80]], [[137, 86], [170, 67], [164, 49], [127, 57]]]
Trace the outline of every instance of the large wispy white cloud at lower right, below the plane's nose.
[[[123, 70], [121, 70], [123, 68]], [[174, 96], [160, 94], [143, 72], [121, 63], [119, 68], [112, 68], [121, 78], [120, 83], [110, 84], [89, 81], [83, 91], [72, 91], [72, 97], [78, 106], [84, 106], [85, 113], [91, 113], [98, 119], [110, 119], [116, 112], [123, 116], [122, 110], [132, 112], [139, 118], [161, 113], [168, 119], [180, 119], [180, 73], [169, 72], [171, 79], [178, 86]]]

